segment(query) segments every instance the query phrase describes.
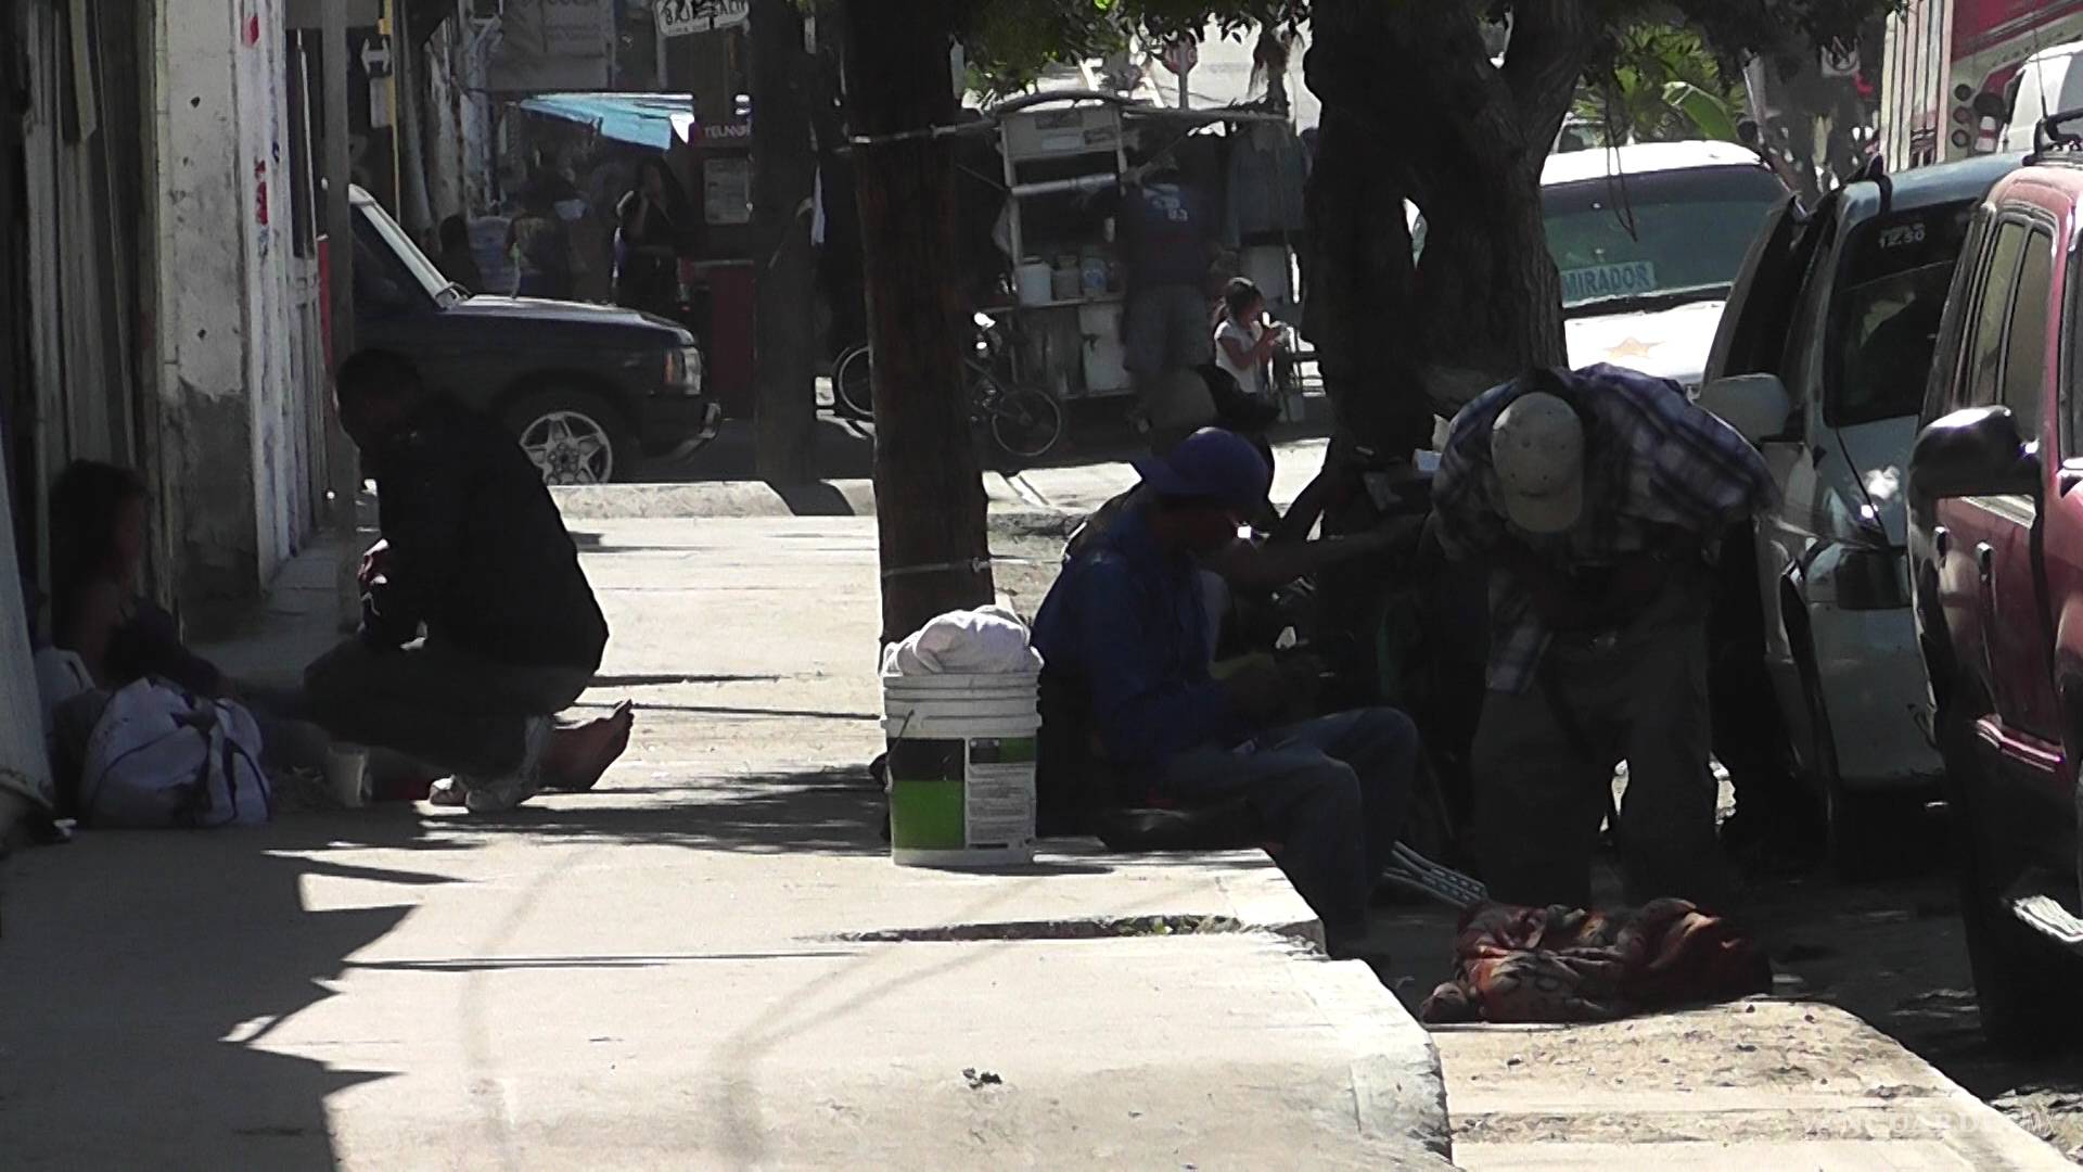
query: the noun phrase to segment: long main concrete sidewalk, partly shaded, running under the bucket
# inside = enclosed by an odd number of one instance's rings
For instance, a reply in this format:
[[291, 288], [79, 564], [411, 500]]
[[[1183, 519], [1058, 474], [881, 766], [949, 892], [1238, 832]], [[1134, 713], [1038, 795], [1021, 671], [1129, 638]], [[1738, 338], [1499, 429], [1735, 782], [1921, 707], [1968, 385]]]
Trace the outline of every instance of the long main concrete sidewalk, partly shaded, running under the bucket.
[[[1262, 855], [887, 861], [871, 519], [575, 530], [596, 792], [6, 863], [8, 1166], [1446, 1164], [1431, 1041]], [[292, 676], [329, 561], [212, 655]]]

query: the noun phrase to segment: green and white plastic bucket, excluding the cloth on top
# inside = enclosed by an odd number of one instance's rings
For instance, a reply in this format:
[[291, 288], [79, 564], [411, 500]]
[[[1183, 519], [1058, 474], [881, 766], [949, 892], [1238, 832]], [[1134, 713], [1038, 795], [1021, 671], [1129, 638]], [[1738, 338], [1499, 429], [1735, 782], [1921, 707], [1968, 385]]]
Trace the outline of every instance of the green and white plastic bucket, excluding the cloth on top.
[[1000, 868], [1035, 857], [1039, 676], [883, 676], [889, 857]]

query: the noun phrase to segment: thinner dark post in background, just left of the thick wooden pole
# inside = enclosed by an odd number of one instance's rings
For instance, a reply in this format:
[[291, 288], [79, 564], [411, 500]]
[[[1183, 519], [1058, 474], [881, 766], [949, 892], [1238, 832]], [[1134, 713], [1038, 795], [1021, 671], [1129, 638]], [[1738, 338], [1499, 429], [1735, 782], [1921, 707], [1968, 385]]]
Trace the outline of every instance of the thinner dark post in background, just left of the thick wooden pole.
[[752, 213], [760, 254], [752, 375], [758, 388], [758, 469], [769, 484], [806, 484], [817, 442], [817, 273], [808, 200], [810, 56], [794, 0], [752, 0]]

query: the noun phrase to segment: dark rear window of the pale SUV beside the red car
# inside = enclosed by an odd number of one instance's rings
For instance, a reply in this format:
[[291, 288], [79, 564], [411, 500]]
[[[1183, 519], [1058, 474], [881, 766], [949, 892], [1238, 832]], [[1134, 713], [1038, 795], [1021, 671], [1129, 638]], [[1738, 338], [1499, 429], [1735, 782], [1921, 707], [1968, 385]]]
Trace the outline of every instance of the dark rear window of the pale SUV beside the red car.
[[1846, 242], [1823, 417], [1833, 428], [1916, 415], [1973, 200], [1898, 211]]

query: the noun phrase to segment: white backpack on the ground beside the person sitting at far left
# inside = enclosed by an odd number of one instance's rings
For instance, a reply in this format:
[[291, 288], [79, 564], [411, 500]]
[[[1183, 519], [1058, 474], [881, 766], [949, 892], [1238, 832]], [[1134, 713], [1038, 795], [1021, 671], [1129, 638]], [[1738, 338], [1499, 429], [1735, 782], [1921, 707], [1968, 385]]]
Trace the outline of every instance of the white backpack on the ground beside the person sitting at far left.
[[273, 813], [260, 728], [231, 701], [137, 680], [87, 738], [79, 817], [106, 828], [258, 826]]

